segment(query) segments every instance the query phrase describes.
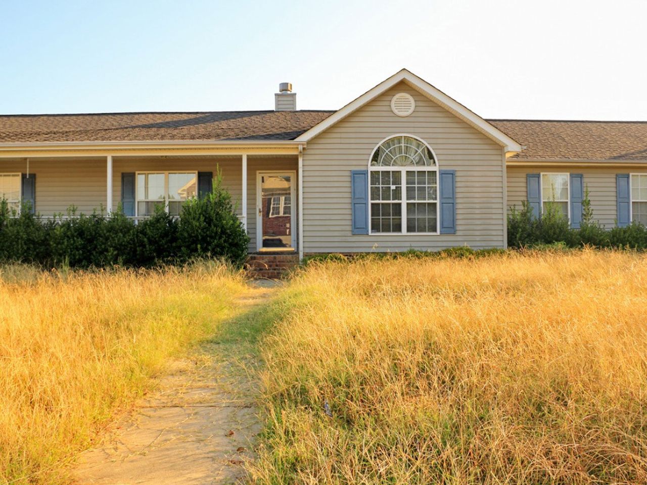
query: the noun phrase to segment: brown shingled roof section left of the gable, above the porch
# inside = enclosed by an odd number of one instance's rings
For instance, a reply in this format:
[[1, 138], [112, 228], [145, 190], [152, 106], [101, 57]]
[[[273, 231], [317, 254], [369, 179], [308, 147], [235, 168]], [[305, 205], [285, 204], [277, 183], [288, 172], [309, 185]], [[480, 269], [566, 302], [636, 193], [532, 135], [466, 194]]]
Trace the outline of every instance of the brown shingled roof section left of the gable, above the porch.
[[15, 114], [0, 116], [0, 143], [159, 140], [294, 140], [334, 111]]

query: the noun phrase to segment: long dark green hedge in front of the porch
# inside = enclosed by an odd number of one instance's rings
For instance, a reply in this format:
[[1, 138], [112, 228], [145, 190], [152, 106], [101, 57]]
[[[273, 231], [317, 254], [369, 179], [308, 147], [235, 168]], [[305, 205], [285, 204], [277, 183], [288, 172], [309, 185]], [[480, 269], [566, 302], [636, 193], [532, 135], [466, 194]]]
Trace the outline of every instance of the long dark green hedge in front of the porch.
[[242, 264], [249, 237], [220, 177], [213, 186], [212, 193], [187, 200], [177, 219], [159, 206], [138, 223], [121, 210], [85, 215], [72, 207], [66, 217], [43, 219], [25, 204], [18, 215], [0, 200], [0, 263], [150, 267], [209, 257]]

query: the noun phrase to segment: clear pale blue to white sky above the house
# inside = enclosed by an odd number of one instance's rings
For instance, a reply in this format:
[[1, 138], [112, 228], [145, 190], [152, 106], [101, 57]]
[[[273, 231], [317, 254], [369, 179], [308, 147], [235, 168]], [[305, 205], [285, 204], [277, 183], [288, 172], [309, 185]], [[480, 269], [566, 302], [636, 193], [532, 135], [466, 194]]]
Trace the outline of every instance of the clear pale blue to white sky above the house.
[[647, 0], [0, 0], [0, 113], [337, 109], [402, 67], [485, 118], [647, 120]]

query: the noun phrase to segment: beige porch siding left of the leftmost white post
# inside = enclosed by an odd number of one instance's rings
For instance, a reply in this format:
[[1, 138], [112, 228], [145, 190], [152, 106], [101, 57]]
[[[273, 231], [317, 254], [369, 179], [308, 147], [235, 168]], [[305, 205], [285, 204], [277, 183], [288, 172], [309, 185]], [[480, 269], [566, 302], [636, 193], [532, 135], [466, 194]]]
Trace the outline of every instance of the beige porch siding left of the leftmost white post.
[[[0, 173], [27, 173], [27, 161], [0, 160]], [[105, 208], [104, 160], [30, 160], [29, 173], [36, 174], [36, 211], [44, 216], [67, 213], [74, 205], [91, 213]]]

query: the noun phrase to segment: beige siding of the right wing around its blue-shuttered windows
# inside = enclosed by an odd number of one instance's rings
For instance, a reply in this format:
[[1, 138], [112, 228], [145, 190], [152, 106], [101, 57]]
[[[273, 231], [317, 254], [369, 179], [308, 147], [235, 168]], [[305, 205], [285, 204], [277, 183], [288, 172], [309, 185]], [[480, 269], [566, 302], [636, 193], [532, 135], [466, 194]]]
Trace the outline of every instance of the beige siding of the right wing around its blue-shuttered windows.
[[596, 168], [596, 167], [508, 167], [508, 207], [521, 209], [521, 202], [527, 199], [526, 175], [529, 173], [564, 172], [581, 173], [584, 187], [589, 189], [593, 217], [606, 228], [615, 226], [617, 219], [617, 198], [615, 176], [618, 173], [647, 173], [645, 168]]

